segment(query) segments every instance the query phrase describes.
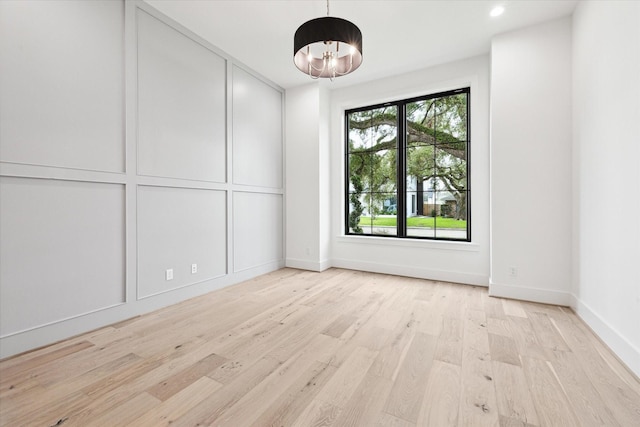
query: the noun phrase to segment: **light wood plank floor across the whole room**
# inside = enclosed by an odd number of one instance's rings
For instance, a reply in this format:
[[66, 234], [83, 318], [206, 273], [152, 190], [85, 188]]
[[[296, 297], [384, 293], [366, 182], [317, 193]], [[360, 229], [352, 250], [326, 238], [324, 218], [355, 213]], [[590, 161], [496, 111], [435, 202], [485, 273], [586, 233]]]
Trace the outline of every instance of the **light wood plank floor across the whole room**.
[[640, 426], [566, 308], [283, 269], [0, 362], [2, 426]]

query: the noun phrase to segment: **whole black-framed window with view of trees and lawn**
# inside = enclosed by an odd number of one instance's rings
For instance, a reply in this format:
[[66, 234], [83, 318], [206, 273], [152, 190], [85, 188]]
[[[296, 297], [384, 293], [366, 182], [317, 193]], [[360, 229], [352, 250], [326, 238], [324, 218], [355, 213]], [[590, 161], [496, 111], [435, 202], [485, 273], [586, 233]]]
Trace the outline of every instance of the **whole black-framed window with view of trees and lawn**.
[[469, 96], [346, 111], [347, 234], [471, 241]]

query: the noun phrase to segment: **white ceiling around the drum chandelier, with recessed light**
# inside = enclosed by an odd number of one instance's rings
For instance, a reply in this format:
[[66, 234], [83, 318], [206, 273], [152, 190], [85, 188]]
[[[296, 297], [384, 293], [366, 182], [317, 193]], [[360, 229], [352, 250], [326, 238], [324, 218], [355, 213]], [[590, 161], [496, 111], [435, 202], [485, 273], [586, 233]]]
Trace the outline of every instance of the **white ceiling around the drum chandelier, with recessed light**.
[[[283, 88], [311, 79], [293, 64], [293, 35], [326, 16], [325, 0], [146, 0]], [[489, 52], [499, 33], [570, 15], [578, 0], [330, 0], [362, 31], [364, 61], [324, 84], [350, 86]], [[502, 16], [490, 10], [503, 5]]]

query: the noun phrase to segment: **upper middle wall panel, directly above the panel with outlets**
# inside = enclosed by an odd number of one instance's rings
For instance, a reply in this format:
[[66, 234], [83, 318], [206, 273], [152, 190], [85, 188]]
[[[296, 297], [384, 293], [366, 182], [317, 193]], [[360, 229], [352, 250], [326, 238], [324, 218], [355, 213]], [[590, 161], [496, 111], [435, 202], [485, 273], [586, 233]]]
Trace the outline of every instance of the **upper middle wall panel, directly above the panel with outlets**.
[[138, 172], [224, 182], [225, 59], [146, 12], [137, 18]]

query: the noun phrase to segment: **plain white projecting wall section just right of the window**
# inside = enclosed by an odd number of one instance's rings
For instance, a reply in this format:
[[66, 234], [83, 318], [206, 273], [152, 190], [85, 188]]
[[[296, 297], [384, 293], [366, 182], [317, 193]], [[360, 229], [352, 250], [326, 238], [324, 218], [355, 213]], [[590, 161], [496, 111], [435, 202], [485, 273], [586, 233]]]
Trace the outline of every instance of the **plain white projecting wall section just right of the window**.
[[569, 305], [571, 207], [565, 18], [491, 44], [491, 295]]

